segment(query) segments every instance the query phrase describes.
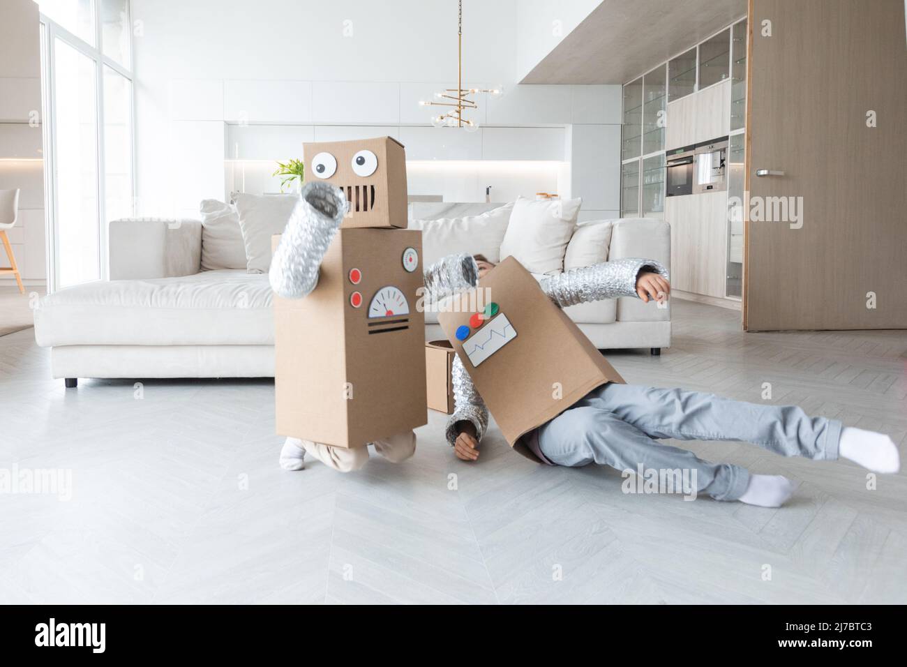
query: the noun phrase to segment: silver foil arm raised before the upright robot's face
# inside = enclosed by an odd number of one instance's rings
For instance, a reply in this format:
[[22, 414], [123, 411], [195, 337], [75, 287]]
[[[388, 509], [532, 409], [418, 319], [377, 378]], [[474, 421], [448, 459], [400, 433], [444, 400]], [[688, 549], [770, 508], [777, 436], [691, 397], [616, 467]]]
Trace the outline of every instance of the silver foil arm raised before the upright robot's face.
[[346, 196], [328, 183], [306, 183], [271, 260], [268, 280], [284, 299], [299, 299], [318, 284], [327, 247], [346, 215]]

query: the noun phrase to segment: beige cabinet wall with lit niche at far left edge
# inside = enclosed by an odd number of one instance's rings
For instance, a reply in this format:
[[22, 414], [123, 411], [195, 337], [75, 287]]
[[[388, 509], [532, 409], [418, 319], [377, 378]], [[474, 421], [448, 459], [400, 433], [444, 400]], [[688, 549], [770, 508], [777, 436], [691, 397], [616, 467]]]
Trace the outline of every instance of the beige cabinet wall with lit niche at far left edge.
[[[44, 142], [38, 5], [4, 0], [0, 5], [0, 190], [19, 188], [19, 218], [7, 231], [22, 279], [43, 284]], [[30, 123], [31, 121], [31, 123]], [[0, 249], [0, 266], [7, 267]], [[0, 285], [15, 284], [12, 274]]]

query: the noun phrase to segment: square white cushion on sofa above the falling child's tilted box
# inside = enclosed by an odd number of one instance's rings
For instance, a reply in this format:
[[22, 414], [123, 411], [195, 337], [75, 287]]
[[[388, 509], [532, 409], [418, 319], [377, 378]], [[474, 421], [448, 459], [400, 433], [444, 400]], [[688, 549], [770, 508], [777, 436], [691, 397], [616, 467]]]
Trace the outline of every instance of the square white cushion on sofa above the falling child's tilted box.
[[534, 201], [519, 197], [501, 242], [501, 259], [514, 257], [531, 273], [563, 270], [564, 251], [581, 203], [581, 199]]

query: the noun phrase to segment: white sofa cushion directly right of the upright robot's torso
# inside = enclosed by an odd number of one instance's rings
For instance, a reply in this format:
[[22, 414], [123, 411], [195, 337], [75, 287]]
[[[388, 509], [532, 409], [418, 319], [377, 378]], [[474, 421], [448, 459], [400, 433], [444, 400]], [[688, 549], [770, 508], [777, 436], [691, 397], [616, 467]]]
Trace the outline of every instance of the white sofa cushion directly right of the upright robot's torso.
[[457, 252], [483, 254], [489, 261], [497, 262], [512, 210], [513, 204], [508, 203], [481, 215], [409, 221], [409, 228], [422, 230], [422, 255], [426, 267]]

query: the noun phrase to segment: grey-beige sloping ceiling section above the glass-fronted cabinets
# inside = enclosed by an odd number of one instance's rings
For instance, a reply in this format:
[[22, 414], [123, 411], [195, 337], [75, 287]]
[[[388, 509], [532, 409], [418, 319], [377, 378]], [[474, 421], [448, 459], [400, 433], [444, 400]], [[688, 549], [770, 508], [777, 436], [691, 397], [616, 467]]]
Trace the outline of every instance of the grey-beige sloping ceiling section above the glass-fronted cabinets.
[[520, 83], [626, 83], [746, 15], [746, 0], [604, 0]]

